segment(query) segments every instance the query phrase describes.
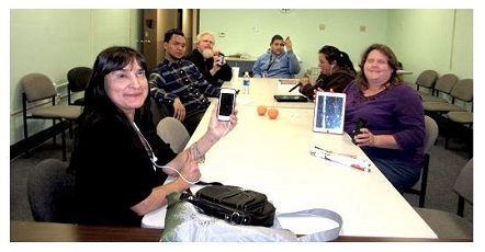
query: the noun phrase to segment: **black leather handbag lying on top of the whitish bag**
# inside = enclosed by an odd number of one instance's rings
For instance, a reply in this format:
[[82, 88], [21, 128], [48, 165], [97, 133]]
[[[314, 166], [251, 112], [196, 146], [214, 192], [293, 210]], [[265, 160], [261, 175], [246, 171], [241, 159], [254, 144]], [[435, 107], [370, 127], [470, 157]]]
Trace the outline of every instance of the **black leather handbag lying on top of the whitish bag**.
[[237, 225], [271, 227], [277, 211], [264, 194], [233, 185], [210, 185], [195, 195], [184, 192], [180, 198], [208, 216]]

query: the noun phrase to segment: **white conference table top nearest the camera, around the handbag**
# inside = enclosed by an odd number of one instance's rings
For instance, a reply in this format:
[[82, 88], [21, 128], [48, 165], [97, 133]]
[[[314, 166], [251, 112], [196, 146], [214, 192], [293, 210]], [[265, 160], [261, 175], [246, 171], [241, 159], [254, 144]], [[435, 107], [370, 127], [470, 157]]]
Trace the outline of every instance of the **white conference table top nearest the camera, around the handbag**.
[[[341, 236], [437, 238], [375, 165], [366, 173], [309, 154], [311, 148], [318, 146], [365, 158], [346, 134], [313, 133], [313, 110], [279, 107], [277, 119], [259, 116], [252, 105], [238, 105], [238, 111], [237, 127], [214, 145], [200, 164], [202, 181], [262, 192], [277, 214], [331, 209], [342, 217]], [[205, 133], [210, 114], [189, 145]], [[165, 213], [163, 207], [145, 215], [142, 226], [163, 228]], [[332, 225], [317, 218], [280, 219], [280, 224], [300, 234]]]

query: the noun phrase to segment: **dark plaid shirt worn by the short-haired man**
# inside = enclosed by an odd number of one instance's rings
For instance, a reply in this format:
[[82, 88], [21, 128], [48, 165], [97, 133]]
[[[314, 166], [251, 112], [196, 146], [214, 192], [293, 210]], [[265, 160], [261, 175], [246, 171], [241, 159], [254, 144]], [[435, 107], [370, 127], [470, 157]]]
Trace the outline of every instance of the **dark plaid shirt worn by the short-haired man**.
[[158, 102], [172, 103], [179, 98], [185, 112], [205, 110], [211, 102], [206, 96], [217, 98], [221, 88], [205, 81], [198, 67], [185, 59], [170, 62], [165, 59], [149, 76], [150, 94]]

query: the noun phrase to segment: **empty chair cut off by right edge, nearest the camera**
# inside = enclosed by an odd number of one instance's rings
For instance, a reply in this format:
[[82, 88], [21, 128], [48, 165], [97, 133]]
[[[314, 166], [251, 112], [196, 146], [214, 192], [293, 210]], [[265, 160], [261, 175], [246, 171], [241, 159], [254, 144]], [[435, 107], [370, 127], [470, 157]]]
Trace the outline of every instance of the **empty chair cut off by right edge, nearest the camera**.
[[473, 224], [463, 218], [465, 202], [473, 205], [473, 158], [466, 162], [453, 185], [459, 196], [456, 214], [430, 208], [415, 208], [440, 239], [473, 239]]

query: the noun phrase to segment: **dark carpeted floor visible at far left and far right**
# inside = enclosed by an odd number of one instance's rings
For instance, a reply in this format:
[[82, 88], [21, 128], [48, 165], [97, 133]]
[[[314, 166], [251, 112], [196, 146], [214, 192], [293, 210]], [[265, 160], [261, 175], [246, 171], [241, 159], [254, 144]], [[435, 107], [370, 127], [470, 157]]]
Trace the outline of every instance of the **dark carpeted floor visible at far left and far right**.
[[[52, 140], [37, 147], [32, 151], [31, 158], [15, 158], [10, 162], [10, 219], [11, 220], [33, 220], [27, 194], [26, 182], [31, 167], [46, 158], [61, 159], [59, 146], [53, 146]], [[444, 139], [438, 138], [437, 145], [430, 151], [430, 169], [428, 179], [428, 192], [425, 207], [456, 211], [458, 196], [452, 191], [455, 177], [461, 168], [469, 160], [465, 145], [459, 139], [450, 141], [450, 148], [444, 149]], [[68, 148], [70, 141], [68, 141]], [[70, 150], [68, 151], [68, 157]], [[405, 194], [404, 197], [411, 206], [418, 206], [418, 196]], [[464, 215], [473, 221], [473, 206], [465, 204]]]

